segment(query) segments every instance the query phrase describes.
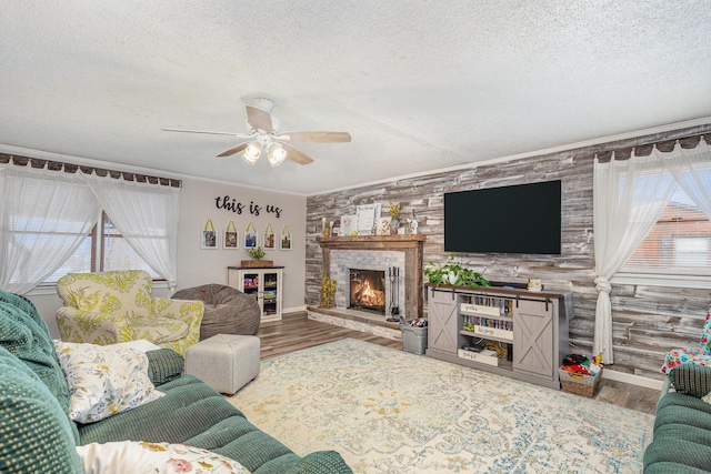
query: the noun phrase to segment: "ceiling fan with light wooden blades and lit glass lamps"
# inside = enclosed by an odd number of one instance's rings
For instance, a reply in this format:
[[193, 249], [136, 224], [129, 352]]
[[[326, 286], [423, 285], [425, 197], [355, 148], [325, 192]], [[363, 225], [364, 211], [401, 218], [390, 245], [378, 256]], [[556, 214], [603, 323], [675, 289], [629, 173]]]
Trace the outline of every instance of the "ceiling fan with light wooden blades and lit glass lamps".
[[246, 139], [242, 143], [224, 150], [219, 158], [231, 157], [242, 152], [242, 160], [256, 164], [262, 153], [267, 153], [269, 164], [278, 167], [286, 159], [299, 164], [309, 164], [311, 157], [289, 142], [304, 143], [346, 143], [351, 141], [348, 132], [281, 132], [280, 121], [272, 117], [274, 102], [258, 98], [252, 105], [247, 105], [247, 133], [212, 132], [207, 130], [163, 129], [167, 132], [206, 133], [213, 135], [231, 135]]

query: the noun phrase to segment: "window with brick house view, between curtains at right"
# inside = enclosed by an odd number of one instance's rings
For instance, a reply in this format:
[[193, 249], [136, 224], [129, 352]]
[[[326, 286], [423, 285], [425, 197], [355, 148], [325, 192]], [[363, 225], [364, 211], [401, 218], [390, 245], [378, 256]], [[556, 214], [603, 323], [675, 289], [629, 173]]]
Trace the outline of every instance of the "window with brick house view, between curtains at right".
[[681, 188], [620, 273], [711, 278], [711, 222]]

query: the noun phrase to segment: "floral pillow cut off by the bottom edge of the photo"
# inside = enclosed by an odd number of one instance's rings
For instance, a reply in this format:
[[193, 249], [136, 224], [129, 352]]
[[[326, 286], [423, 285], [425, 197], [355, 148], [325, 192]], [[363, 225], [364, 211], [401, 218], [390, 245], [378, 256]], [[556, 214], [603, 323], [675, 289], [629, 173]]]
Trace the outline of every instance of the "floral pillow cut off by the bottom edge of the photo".
[[184, 444], [119, 441], [77, 446], [86, 474], [250, 474], [240, 463]]

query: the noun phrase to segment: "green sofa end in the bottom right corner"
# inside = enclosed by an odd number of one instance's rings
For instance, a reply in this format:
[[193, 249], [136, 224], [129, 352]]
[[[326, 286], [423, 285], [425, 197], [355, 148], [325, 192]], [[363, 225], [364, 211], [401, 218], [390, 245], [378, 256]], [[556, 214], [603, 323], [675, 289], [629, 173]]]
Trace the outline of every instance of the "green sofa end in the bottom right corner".
[[688, 363], [669, 371], [644, 452], [645, 474], [711, 473], [711, 404], [701, 400], [709, 392], [711, 367]]

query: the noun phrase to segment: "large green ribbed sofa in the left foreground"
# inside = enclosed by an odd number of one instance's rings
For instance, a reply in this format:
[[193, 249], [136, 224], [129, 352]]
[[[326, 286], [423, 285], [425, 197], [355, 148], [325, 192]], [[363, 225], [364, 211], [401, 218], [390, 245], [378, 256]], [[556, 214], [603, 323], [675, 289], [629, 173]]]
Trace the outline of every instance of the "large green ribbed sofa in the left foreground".
[[47, 324], [32, 303], [0, 291], [0, 472], [81, 473], [88, 443], [182, 443], [238, 461], [253, 474], [352, 473], [333, 451], [298, 456], [190, 375], [183, 359], [149, 351], [149, 376], [166, 395], [91, 424], [69, 417], [69, 389]]

